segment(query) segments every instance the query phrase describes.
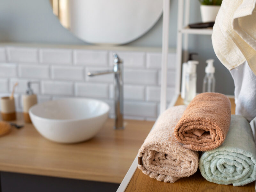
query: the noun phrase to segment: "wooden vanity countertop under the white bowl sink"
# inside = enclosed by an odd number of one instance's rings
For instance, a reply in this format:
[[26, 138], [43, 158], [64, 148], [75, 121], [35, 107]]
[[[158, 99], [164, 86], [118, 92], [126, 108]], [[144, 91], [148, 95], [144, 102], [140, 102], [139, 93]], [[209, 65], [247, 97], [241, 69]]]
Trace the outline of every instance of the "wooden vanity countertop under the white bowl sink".
[[154, 122], [125, 120], [124, 130], [113, 124], [108, 119], [94, 138], [77, 144], [49, 141], [32, 124], [12, 128], [0, 138], [0, 171], [121, 183]]

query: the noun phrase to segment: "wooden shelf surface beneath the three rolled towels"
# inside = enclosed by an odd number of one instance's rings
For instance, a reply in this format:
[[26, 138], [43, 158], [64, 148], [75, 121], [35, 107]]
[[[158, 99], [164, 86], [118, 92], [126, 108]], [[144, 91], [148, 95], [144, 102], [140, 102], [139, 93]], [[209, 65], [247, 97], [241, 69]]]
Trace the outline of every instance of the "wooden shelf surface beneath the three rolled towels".
[[[235, 114], [235, 100], [230, 98], [231, 101], [231, 113]], [[175, 105], [183, 105], [183, 100], [178, 97]], [[122, 184], [121, 184], [122, 185]], [[254, 182], [249, 183], [245, 186], [234, 187], [231, 185], [218, 185], [212, 182], [208, 182], [203, 178], [199, 170], [194, 175], [190, 177], [181, 178], [174, 183], [164, 183], [163, 181], [157, 181], [150, 178], [149, 176], [143, 174], [138, 168], [132, 175], [132, 178], [125, 190], [126, 192], [136, 192], [136, 191], [214, 191], [214, 192], [223, 192], [223, 191], [241, 191], [241, 192], [255, 192]]]

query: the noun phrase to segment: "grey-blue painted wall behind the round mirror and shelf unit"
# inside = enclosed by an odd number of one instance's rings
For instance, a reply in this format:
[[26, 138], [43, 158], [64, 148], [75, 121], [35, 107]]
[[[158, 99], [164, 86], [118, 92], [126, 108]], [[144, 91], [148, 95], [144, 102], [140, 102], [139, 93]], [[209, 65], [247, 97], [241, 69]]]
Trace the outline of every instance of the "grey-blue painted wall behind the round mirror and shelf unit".
[[[169, 46], [176, 47], [178, 0], [171, 1]], [[191, 1], [190, 22], [200, 22], [201, 15], [197, 0]], [[129, 43], [131, 46], [160, 47], [162, 44], [162, 18], [144, 36]], [[43, 43], [43, 44], [86, 44], [60, 25], [52, 14], [48, 0], [1, 0], [0, 42]], [[189, 51], [198, 52], [197, 92], [202, 92], [205, 60], [215, 60], [216, 92], [234, 94], [233, 79], [217, 59], [212, 48], [211, 36], [190, 35]]]

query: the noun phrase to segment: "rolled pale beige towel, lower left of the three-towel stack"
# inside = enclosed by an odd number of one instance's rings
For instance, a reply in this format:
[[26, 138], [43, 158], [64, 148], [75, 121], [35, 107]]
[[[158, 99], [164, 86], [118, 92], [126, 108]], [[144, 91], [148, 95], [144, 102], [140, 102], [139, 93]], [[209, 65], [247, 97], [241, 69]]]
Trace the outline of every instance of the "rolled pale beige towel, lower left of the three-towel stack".
[[174, 136], [175, 125], [185, 109], [180, 105], [164, 111], [141, 146], [138, 168], [149, 177], [173, 183], [196, 172], [198, 153], [183, 148]]

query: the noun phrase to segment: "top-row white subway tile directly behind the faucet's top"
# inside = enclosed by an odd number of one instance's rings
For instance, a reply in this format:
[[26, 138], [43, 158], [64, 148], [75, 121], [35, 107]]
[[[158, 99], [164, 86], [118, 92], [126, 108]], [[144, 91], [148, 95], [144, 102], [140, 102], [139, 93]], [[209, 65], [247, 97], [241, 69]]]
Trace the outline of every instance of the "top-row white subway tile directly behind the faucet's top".
[[[114, 52], [109, 53], [109, 65], [113, 66]], [[124, 60], [124, 68], [144, 68], [145, 67], [145, 52], [116, 52], [118, 56]]]

